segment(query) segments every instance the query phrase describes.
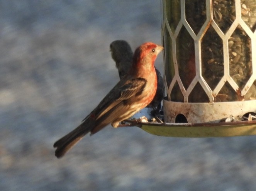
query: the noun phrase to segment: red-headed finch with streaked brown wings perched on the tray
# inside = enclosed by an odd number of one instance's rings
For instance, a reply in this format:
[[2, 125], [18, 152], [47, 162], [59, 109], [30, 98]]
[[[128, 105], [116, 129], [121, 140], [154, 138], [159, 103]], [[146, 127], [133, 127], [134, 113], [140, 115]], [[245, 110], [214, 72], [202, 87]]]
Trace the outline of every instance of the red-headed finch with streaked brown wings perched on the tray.
[[[62, 157], [87, 133], [97, 133], [109, 123], [113, 127], [146, 107], [154, 98], [157, 88], [154, 61], [163, 47], [151, 42], [139, 46], [129, 73], [103, 98], [99, 105], [75, 130], [54, 143], [55, 156]], [[124, 124], [126, 125], [126, 124]]]

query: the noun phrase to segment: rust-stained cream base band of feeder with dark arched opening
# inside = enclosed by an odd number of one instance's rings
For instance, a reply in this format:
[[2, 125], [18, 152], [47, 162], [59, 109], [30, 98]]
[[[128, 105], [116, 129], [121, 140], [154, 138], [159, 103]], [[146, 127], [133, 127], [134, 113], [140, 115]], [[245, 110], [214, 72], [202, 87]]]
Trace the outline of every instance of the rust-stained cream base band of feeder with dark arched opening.
[[215, 103], [182, 103], [163, 100], [164, 121], [175, 123], [176, 116], [184, 115], [188, 123], [219, 122], [230, 115], [241, 117], [256, 113], [256, 100]]

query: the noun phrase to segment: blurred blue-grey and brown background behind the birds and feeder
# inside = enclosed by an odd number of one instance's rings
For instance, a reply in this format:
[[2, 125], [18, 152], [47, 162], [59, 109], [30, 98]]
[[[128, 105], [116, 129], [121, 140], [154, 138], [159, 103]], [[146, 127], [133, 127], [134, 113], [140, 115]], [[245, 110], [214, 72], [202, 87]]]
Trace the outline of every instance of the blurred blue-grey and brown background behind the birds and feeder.
[[[166, 138], [107, 126], [53, 143], [119, 81], [109, 44], [161, 44], [155, 0], [0, 0], [1, 191], [255, 191], [256, 138]], [[163, 74], [163, 58], [156, 66]]]

